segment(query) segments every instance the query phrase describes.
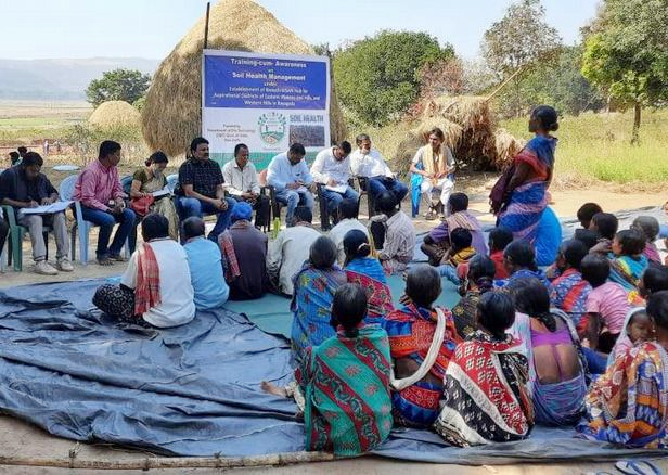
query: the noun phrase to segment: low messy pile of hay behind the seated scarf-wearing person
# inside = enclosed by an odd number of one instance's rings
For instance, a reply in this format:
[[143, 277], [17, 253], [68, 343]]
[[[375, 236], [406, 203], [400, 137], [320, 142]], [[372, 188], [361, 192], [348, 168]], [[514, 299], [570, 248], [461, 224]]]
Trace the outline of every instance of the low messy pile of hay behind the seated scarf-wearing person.
[[394, 155], [395, 167], [404, 176], [411, 158], [427, 143], [434, 127], [444, 131], [446, 144], [458, 163], [475, 170], [501, 169], [522, 150], [522, 142], [506, 130], [497, 129], [497, 119], [485, 98], [444, 95], [431, 100], [423, 110], [416, 127], [399, 143]]

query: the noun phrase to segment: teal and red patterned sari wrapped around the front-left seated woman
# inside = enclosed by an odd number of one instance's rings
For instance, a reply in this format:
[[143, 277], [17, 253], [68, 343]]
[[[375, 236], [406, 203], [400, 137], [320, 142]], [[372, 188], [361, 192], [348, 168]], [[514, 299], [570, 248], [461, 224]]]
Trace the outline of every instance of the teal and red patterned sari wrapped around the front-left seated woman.
[[387, 334], [376, 325], [308, 348], [296, 371], [306, 449], [359, 455], [383, 444], [393, 426], [389, 374]]

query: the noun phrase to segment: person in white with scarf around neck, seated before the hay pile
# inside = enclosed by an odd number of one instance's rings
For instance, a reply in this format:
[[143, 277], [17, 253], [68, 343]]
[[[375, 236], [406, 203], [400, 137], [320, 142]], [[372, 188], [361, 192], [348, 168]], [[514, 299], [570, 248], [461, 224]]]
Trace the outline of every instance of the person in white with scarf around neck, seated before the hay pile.
[[[429, 143], [418, 149], [410, 171], [413, 174], [411, 185], [413, 190], [420, 187], [420, 193], [429, 205], [426, 219], [435, 219], [437, 214], [445, 215], [446, 205], [454, 182], [450, 174], [454, 172], [454, 157], [450, 149], [444, 143], [446, 136], [438, 127], [429, 131]], [[434, 194], [438, 193], [436, 200]], [[415, 191], [413, 196], [415, 196]], [[413, 202], [413, 217], [418, 214], [419, 198]]]

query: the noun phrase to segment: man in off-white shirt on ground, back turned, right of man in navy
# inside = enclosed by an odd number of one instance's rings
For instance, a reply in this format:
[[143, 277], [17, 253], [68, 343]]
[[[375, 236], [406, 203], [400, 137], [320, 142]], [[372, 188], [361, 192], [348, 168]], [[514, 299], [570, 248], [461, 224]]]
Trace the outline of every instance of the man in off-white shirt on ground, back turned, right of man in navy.
[[293, 275], [301, 269], [309, 257], [311, 244], [321, 235], [312, 228], [312, 219], [311, 210], [299, 206], [295, 210], [295, 226], [284, 229], [269, 243], [267, 273], [281, 294], [293, 294]]

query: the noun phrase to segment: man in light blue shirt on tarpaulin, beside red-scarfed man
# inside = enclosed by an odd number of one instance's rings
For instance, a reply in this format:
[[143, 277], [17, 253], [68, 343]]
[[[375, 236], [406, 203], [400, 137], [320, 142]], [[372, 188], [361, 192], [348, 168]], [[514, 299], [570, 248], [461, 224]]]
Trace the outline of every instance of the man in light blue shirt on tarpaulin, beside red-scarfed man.
[[222, 273], [220, 248], [215, 242], [204, 238], [204, 220], [193, 216], [183, 221], [183, 240], [190, 280], [195, 292], [195, 307], [207, 310], [221, 307], [228, 301], [230, 287]]

